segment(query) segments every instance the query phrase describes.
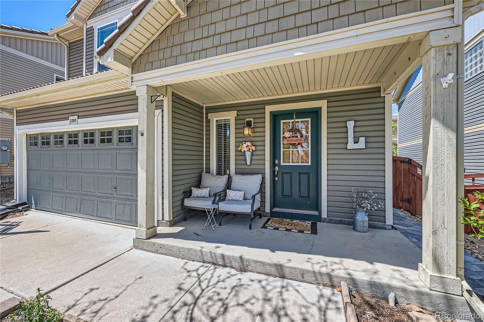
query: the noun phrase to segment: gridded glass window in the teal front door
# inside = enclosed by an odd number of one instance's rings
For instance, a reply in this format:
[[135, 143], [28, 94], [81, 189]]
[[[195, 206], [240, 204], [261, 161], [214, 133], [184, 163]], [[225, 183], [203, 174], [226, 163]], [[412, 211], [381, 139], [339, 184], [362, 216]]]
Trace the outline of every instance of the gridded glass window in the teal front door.
[[[294, 120], [283, 120], [282, 121], [282, 133], [281, 138], [284, 138], [284, 134], [291, 128], [297, 128], [302, 132], [304, 142], [298, 145], [290, 145], [289, 143], [282, 144], [282, 164], [310, 164], [310, 153], [309, 140], [310, 140], [310, 119], [297, 119], [296, 123]], [[294, 126], [295, 125], [295, 126]], [[290, 133], [291, 138], [299, 138], [297, 133]]]

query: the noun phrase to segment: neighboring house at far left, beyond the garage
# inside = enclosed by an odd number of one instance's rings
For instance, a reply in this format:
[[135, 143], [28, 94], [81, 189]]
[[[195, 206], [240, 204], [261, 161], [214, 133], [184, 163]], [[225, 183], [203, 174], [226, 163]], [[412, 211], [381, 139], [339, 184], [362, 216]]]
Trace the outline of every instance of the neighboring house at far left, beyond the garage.
[[[47, 32], [0, 24], [0, 94], [64, 79], [64, 47]], [[14, 181], [14, 111], [0, 110], [0, 180]]]

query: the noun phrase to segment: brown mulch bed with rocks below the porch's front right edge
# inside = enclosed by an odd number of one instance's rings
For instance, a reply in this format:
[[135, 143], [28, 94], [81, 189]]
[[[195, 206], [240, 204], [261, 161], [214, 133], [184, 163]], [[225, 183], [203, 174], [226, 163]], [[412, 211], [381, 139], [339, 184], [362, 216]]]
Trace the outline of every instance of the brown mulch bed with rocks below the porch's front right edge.
[[359, 322], [413, 322], [405, 305], [390, 306], [388, 301], [353, 292], [353, 304]]

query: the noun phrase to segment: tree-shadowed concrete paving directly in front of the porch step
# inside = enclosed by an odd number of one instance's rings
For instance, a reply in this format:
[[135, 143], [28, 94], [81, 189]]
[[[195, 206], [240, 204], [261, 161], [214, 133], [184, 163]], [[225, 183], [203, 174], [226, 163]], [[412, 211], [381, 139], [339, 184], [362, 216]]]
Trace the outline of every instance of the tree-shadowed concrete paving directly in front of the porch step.
[[344, 322], [336, 290], [132, 249], [50, 293], [96, 321]]

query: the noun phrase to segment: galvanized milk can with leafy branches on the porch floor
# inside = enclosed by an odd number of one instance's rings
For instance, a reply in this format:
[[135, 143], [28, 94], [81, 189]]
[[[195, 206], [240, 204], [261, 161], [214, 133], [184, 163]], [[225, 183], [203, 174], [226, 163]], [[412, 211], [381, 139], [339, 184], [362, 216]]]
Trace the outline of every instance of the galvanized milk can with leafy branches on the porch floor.
[[378, 195], [374, 190], [358, 191], [351, 189], [348, 200], [355, 208], [353, 217], [353, 230], [358, 233], [368, 233], [368, 213], [365, 210], [383, 209], [383, 203], [377, 200]]

